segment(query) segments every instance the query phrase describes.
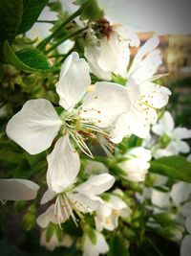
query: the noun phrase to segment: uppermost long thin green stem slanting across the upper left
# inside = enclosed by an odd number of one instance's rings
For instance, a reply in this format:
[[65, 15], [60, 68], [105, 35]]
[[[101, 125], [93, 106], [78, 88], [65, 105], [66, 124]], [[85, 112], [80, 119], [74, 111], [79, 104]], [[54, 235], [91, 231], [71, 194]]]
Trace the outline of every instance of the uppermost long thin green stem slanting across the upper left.
[[42, 49], [43, 47], [45, 47], [50, 41], [51, 39], [53, 39], [53, 37], [55, 35], [57, 35], [60, 30], [62, 30], [69, 22], [71, 22], [75, 17], [77, 17], [80, 14], [81, 10], [78, 9], [76, 12], [74, 12], [71, 16], [69, 16], [67, 19], [65, 19], [62, 24], [60, 24], [60, 26], [53, 32], [52, 35], [49, 35], [47, 38], [45, 38], [44, 40], [42, 40], [37, 48], [38, 49]]

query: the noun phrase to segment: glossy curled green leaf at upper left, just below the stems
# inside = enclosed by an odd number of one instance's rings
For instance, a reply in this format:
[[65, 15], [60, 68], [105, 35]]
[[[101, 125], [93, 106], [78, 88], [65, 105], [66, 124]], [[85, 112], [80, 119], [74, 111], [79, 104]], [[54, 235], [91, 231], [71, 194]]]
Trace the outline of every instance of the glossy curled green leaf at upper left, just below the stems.
[[14, 53], [8, 41], [5, 41], [3, 51], [6, 61], [17, 69], [26, 72], [53, 70], [46, 56], [37, 49], [27, 48]]

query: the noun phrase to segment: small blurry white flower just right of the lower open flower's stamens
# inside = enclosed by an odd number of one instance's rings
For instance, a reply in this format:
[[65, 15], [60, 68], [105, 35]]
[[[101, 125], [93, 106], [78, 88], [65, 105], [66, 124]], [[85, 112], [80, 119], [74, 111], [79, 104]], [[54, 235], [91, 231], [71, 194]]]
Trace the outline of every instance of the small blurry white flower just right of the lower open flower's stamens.
[[96, 230], [114, 230], [118, 225], [118, 218], [126, 218], [131, 214], [130, 208], [119, 197], [111, 195], [108, 200], [102, 200], [96, 210]]

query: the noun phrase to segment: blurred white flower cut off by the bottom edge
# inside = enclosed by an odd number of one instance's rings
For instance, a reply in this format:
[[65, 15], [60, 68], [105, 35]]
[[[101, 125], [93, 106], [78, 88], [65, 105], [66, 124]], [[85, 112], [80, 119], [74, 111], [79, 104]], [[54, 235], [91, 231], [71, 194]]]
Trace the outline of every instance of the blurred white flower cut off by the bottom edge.
[[109, 245], [104, 236], [96, 230], [94, 230], [94, 233], [96, 235], [96, 244], [92, 242], [88, 235], [85, 235], [83, 256], [98, 256], [99, 254], [105, 254], [109, 251]]

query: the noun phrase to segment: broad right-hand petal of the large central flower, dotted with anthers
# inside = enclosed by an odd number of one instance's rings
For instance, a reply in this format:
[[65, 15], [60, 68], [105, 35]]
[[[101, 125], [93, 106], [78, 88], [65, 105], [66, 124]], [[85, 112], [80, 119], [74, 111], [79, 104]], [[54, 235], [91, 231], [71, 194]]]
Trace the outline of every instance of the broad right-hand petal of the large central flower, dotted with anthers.
[[123, 86], [100, 81], [96, 82], [94, 91], [84, 97], [80, 116], [100, 128], [106, 128], [129, 107], [127, 91]]

